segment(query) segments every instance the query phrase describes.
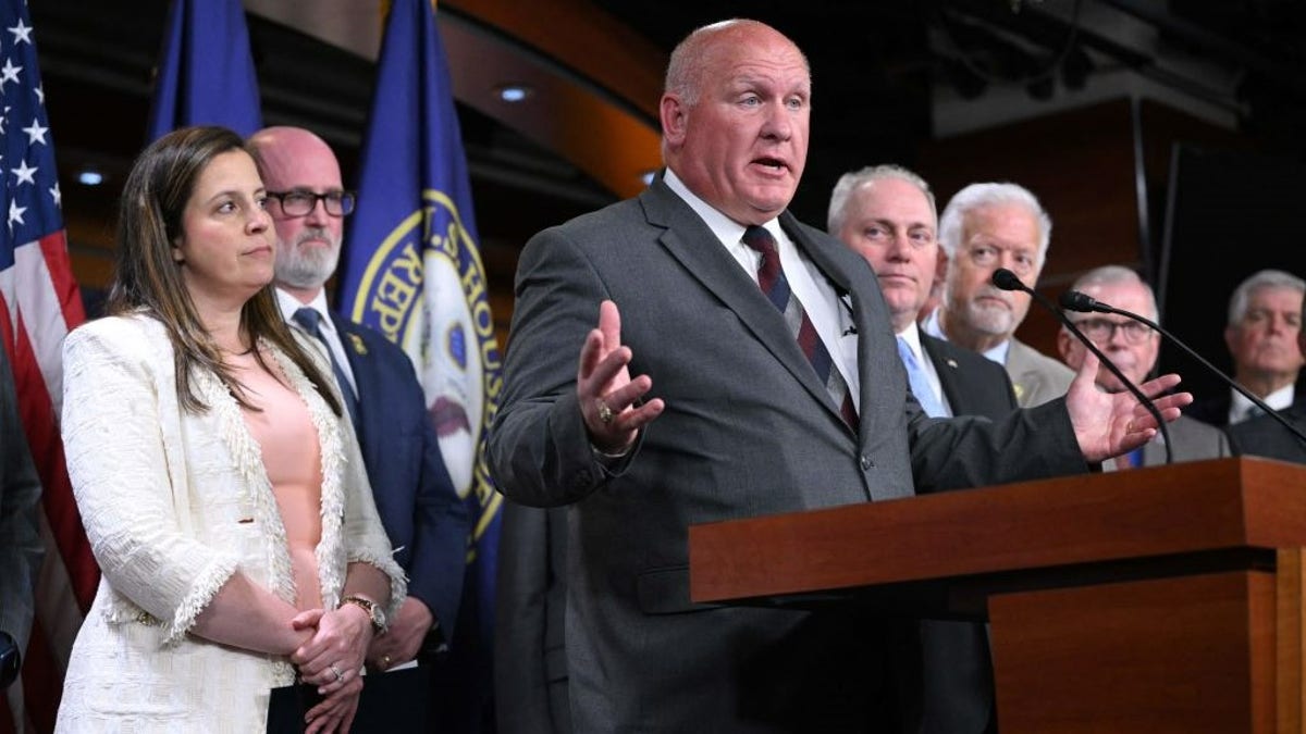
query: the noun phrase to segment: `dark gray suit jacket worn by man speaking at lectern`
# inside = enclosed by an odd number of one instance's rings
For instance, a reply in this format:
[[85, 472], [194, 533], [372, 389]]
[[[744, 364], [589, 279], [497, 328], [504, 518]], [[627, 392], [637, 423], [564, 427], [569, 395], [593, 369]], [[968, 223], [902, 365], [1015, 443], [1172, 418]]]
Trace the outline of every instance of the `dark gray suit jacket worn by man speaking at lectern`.
[[[867, 707], [893, 684], [880, 637], [888, 623], [691, 603], [690, 525], [905, 498], [913, 475], [934, 491], [1087, 469], [1060, 402], [998, 423], [926, 418], [866, 261], [789, 214], [781, 226], [846, 294], [857, 432], [781, 313], [661, 180], [539, 232], [522, 252], [488, 456], [511, 499], [577, 503], [565, 631], [577, 731], [880, 721]], [[652, 396], [666, 401], [615, 466], [590, 448], [575, 384], [603, 299], [622, 310], [631, 374], [649, 375]]]

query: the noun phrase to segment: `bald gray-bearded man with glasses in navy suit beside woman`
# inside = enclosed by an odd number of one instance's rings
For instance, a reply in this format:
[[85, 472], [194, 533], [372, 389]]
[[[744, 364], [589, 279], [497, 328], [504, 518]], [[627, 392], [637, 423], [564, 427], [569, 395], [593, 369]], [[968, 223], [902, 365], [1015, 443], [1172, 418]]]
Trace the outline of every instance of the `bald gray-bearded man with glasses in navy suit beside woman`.
[[470, 529], [440, 455], [413, 362], [380, 333], [326, 308], [343, 217], [354, 196], [316, 135], [289, 127], [249, 138], [277, 230], [277, 300], [286, 320], [316, 337], [332, 362], [354, 422], [376, 509], [409, 576], [409, 597], [368, 648], [385, 670], [435, 653], [453, 633]]

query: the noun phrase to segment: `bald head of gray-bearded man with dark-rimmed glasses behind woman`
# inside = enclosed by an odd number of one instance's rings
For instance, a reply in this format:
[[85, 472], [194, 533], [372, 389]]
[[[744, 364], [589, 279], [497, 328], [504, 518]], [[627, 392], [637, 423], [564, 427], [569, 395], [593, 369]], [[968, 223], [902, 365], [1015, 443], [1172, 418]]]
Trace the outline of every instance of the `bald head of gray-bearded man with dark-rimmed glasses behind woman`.
[[282, 197], [342, 192], [340, 162], [326, 141], [303, 128], [264, 128], [249, 137], [249, 144], [268, 187], [268, 212], [277, 230], [277, 286], [308, 303], [336, 272], [343, 217], [328, 213], [321, 200], [313, 200], [307, 214], [291, 214]]

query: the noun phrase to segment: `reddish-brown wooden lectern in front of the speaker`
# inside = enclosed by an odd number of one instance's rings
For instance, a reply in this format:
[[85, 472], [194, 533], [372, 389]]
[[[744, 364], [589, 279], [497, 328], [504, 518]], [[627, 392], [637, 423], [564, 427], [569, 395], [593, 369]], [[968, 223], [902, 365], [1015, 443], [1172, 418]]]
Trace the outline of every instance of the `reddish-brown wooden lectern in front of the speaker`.
[[1224, 458], [690, 528], [696, 602], [990, 622], [1003, 734], [1306, 733], [1306, 466]]

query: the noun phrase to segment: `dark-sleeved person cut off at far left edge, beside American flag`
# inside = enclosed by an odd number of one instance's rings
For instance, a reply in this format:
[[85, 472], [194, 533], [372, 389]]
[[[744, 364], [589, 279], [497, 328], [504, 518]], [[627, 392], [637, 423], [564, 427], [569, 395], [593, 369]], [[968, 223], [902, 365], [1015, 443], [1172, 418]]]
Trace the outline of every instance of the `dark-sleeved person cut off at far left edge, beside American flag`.
[[[9, 354], [0, 345], [0, 696], [13, 683], [31, 633], [40, 543], [40, 479], [18, 417]], [[0, 726], [4, 729], [4, 726]], [[17, 726], [21, 731], [22, 726]]]

